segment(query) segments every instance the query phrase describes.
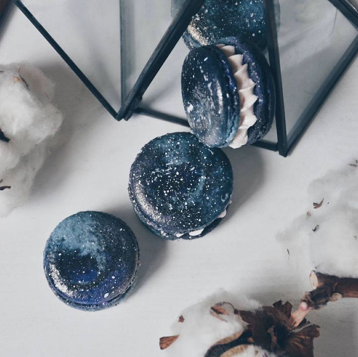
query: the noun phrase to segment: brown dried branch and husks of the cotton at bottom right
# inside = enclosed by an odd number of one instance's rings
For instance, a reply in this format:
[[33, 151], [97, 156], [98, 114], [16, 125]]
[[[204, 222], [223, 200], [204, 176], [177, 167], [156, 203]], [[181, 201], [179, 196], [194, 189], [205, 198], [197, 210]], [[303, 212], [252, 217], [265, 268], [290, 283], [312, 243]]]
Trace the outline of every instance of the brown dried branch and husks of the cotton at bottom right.
[[[311, 285], [298, 310], [278, 301], [255, 311], [237, 310], [232, 303], [217, 303], [210, 313], [221, 321], [220, 315], [230, 315], [223, 306], [230, 305], [233, 314], [247, 323], [247, 329], [213, 344], [205, 357], [231, 357], [245, 351], [250, 345], [274, 352], [278, 356], [313, 357], [313, 340], [320, 336], [319, 326], [307, 322], [305, 317], [328, 302], [341, 298], [358, 298], [358, 279], [339, 278], [312, 271]], [[180, 321], [180, 320], [179, 320]], [[179, 336], [160, 339], [161, 349], [169, 347]]]

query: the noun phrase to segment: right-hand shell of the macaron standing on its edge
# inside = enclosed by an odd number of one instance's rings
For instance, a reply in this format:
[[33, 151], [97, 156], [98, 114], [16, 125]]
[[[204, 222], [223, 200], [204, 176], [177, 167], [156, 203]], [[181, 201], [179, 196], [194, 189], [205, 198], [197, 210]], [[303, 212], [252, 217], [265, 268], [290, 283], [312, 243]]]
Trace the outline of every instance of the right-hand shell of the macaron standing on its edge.
[[248, 64], [249, 76], [256, 83], [254, 94], [258, 96], [258, 100], [254, 104], [254, 114], [257, 122], [248, 130], [247, 144], [255, 143], [269, 132], [275, 115], [275, 85], [269, 63], [252, 42], [226, 37], [221, 38], [219, 43], [231, 45], [236, 54], [243, 54], [243, 63]]

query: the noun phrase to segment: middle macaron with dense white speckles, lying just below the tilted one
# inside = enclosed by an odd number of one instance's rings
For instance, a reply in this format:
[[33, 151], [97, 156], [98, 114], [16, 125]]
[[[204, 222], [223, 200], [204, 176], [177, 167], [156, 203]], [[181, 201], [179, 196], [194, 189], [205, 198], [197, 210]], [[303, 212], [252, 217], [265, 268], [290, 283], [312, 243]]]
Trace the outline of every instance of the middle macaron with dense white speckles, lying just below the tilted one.
[[133, 162], [128, 186], [134, 210], [166, 239], [194, 239], [216, 227], [233, 192], [233, 170], [220, 149], [190, 133], [147, 143]]

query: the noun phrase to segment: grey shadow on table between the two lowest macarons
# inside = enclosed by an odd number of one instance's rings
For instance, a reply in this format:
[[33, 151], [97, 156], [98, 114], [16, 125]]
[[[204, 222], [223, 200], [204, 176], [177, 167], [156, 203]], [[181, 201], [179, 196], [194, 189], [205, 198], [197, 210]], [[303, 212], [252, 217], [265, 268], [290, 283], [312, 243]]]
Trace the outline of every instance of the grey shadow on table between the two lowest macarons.
[[105, 212], [124, 220], [137, 237], [141, 255], [141, 268], [136, 286], [133, 289], [133, 294], [136, 294], [137, 290], [140, 290], [161, 267], [167, 256], [166, 251], [168, 244], [172, 242], [156, 236], [144, 227], [132, 208], [109, 208], [106, 209]]

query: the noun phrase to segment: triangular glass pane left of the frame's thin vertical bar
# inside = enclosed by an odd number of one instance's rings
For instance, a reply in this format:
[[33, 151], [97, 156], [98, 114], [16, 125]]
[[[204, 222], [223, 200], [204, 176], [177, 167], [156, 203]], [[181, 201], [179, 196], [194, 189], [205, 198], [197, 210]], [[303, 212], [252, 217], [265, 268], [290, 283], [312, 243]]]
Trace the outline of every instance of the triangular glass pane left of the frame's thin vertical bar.
[[106, 0], [104, 5], [97, 0], [23, 0], [23, 4], [107, 101], [119, 110], [119, 1]]

